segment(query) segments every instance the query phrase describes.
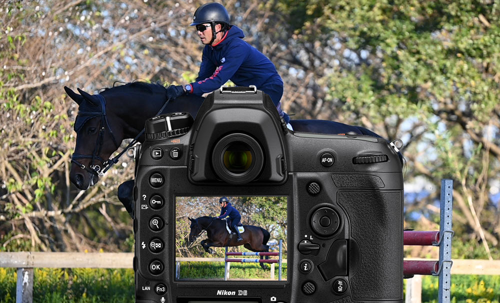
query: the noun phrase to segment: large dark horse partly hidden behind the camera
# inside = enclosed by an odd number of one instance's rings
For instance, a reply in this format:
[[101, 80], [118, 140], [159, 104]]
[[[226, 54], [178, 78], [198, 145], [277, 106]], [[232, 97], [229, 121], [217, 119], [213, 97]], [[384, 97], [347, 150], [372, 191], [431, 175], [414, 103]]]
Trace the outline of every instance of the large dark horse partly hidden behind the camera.
[[[168, 99], [164, 86], [155, 83], [131, 82], [106, 88], [96, 95], [78, 88], [80, 94], [64, 86], [67, 95], [78, 104], [74, 123], [76, 146], [72, 155], [69, 179], [79, 189], [94, 185], [99, 176], [112, 165], [109, 157], [123, 139], [136, 137], [144, 128], [146, 119], [161, 113], [189, 112], [196, 117], [203, 98], [183, 95]], [[162, 110], [160, 110], [163, 108]], [[380, 138], [374, 132], [360, 126], [352, 126], [326, 120], [290, 120], [294, 131], [340, 134], [355, 132]], [[144, 135], [138, 137], [144, 141]], [[118, 187], [118, 199], [129, 214], [132, 213], [133, 180]]]

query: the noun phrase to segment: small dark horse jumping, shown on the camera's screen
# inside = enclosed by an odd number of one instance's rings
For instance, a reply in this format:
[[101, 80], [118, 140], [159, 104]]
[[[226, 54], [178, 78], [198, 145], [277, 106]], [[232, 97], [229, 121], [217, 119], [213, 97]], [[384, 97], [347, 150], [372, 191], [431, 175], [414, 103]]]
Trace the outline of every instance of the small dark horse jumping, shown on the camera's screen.
[[[249, 251], [252, 252], [268, 252], [269, 246], [267, 241], [269, 241], [270, 234], [265, 229], [253, 226], [253, 225], [243, 225], [245, 229], [241, 234], [243, 240], [237, 241], [236, 236], [229, 238], [229, 233], [225, 229], [225, 220], [215, 219], [212, 217], [199, 217], [196, 219], [187, 218], [191, 221], [189, 226], [190, 232], [187, 241], [187, 247], [196, 241], [196, 239], [206, 231], [207, 239], [201, 241], [201, 246], [205, 252], [209, 254], [215, 254], [215, 252], [210, 247], [230, 247], [230, 246], [240, 246], [243, 245]], [[260, 256], [263, 259], [264, 256]], [[263, 263], [260, 263], [262, 269], [266, 269]]]

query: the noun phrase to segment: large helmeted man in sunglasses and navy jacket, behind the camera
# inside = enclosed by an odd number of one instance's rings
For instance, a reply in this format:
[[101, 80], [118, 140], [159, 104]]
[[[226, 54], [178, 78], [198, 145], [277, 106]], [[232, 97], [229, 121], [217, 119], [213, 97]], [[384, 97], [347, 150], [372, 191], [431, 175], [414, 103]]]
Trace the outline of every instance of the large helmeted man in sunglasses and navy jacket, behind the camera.
[[229, 14], [220, 3], [199, 6], [189, 26], [195, 26], [201, 43], [205, 44], [196, 81], [170, 85], [167, 94], [176, 98], [183, 94], [202, 95], [219, 88], [227, 80], [238, 86], [255, 85], [268, 94], [289, 129], [290, 118], [281, 110], [283, 81], [272, 62], [242, 38], [243, 31], [229, 24]]

